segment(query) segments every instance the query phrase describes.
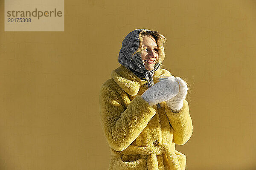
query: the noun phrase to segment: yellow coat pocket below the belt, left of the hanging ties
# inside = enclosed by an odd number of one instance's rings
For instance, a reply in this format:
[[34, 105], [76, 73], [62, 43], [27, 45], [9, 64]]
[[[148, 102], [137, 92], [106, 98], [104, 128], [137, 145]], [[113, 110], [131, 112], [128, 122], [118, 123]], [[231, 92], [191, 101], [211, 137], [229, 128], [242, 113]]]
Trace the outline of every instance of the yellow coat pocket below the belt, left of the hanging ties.
[[147, 170], [146, 159], [123, 161], [121, 157], [116, 157], [113, 170]]

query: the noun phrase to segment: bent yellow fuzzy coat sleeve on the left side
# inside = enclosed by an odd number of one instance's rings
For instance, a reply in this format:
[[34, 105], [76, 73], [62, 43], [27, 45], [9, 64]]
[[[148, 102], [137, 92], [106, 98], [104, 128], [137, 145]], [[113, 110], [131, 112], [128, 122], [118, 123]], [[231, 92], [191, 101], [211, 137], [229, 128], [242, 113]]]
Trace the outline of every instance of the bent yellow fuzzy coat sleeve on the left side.
[[99, 100], [105, 138], [117, 151], [127, 148], [156, 113], [141, 96], [136, 96], [125, 108], [115, 86], [106, 83], [100, 89]]

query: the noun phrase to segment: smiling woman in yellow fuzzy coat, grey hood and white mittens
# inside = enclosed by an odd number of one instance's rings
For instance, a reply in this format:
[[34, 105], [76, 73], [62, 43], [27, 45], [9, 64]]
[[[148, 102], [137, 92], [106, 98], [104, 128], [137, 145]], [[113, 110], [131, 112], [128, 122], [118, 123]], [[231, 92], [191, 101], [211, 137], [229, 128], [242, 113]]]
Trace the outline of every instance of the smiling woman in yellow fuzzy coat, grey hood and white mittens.
[[100, 89], [100, 114], [111, 147], [109, 170], [185, 170], [186, 156], [175, 150], [192, 135], [185, 99], [187, 85], [160, 68], [165, 37], [136, 29], [122, 42], [121, 66]]

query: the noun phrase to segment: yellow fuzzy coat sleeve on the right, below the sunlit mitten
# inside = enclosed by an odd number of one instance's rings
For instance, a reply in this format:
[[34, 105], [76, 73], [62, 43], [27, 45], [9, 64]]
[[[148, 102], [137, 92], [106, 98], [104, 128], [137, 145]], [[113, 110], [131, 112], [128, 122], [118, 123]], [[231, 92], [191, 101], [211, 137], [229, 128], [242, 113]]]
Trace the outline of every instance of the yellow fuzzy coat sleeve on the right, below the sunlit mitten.
[[165, 111], [173, 129], [173, 142], [179, 145], [188, 142], [192, 136], [193, 125], [186, 99], [183, 100], [183, 108], [180, 112], [172, 112], [172, 109], [167, 105], [165, 106]]

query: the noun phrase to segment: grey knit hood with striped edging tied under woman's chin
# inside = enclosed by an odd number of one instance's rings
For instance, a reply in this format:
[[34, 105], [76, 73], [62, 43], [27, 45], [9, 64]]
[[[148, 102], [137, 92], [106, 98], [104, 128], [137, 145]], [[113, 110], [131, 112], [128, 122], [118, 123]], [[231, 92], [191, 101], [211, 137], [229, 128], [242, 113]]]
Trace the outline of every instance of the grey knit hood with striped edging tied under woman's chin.
[[126, 68], [129, 68], [140, 79], [146, 79], [148, 81], [148, 87], [152, 87], [154, 85], [153, 75], [154, 72], [160, 68], [160, 63], [156, 63], [154, 69], [148, 71], [145, 69], [140, 53], [136, 53], [131, 57], [139, 48], [139, 34], [143, 30], [148, 29], [136, 29], [125, 37], [122, 41], [122, 48], [119, 51], [118, 62]]

